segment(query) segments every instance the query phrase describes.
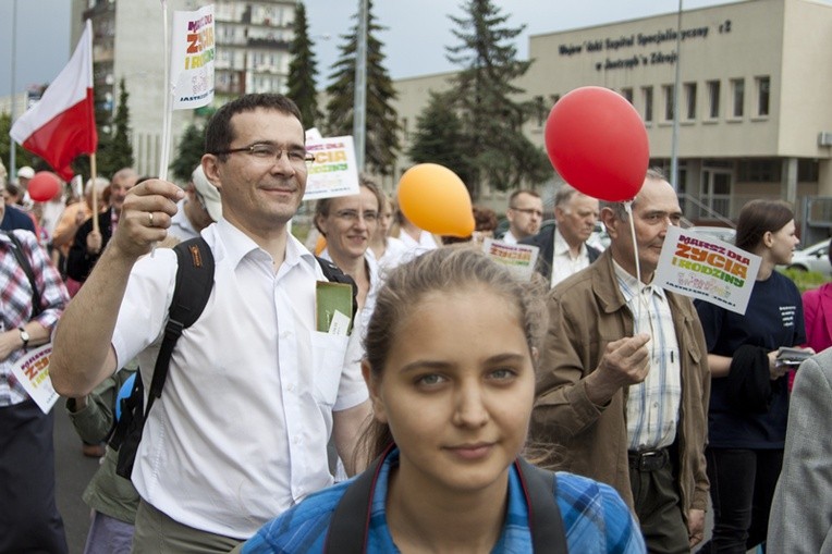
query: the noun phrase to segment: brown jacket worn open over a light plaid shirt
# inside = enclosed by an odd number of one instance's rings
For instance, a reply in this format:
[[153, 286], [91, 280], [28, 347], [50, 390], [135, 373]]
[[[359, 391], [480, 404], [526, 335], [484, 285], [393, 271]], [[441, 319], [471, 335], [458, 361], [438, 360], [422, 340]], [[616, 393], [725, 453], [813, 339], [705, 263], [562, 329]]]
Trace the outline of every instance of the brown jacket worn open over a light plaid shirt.
[[[710, 372], [699, 317], [689, 298], [666, 293], [682, 366], [678, 444], [683, 515], [706, 509]], [[633, 336], [633, 316], [615, 280], [608, 249], [589, 268], [550, 294], [549, 330], [537, 377], [530, 444], [555, 444], [559, 467], [614, 487], [633, 507], [627, 460], [625, 391], [607, 406], [587, 398], [585, 378], [596, 370], [607, 344]]]

